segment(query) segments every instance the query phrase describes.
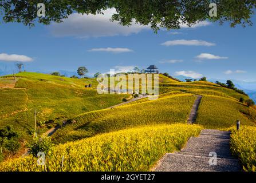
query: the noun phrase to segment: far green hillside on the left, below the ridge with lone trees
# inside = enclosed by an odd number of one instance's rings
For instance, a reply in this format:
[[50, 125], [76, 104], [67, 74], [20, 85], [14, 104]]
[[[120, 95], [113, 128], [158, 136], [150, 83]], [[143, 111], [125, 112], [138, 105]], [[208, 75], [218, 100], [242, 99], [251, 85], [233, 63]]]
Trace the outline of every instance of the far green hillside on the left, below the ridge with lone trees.
[[0, 126], [13, 125], [25, 138], [34, 128], [33, 109], [37, 110], [37, 121], [61, 122], [84, 112], [119, 104], [122, 98], [129, 97], [127, 94], [99, 95], [95, 89], [84, 87], [88, 83], [96, 86], [95, 79], [38, 73], [18, 73], [17, 77], [15, 88], [0, 89]]

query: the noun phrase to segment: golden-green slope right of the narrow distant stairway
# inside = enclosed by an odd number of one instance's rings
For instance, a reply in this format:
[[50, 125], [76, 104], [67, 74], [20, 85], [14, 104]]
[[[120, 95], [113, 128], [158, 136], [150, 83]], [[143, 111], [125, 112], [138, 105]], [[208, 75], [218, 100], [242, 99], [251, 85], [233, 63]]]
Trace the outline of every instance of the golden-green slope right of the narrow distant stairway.
[[199, 105], [196, 124], [206, 129], [228, 129], [240, 120], [242, 125], [255, 125], [256, 110], [238, 101], [204, 95]]

